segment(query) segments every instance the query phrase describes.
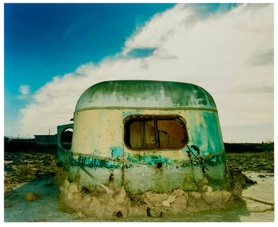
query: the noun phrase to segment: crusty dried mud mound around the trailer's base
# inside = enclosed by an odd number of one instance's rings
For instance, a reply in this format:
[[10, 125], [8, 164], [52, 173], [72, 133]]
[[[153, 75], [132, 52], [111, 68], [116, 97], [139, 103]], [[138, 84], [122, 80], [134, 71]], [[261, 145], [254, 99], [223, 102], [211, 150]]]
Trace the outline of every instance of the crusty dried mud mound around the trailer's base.
[[[59, 171], [58, 171], [59, 172]], [[63, 173], [57, 174], [61, 182]], [[147, 191], [130, 194], [124, 187], [113, 189], [113, 195], [101, 187], [79, 187], [78, 183], [65, 180], [60, 185], [60, 202], [63, 210], [74, 213], [76, 219], [87, 217], [109, 220], [127, 217], [173, 217], [193, 215], [197, 212], [242, 207], [242, 187], [236, 184], [233, 191], [213, 190], [209, 186], [199, 191], [170, 190], [164, 193]]]

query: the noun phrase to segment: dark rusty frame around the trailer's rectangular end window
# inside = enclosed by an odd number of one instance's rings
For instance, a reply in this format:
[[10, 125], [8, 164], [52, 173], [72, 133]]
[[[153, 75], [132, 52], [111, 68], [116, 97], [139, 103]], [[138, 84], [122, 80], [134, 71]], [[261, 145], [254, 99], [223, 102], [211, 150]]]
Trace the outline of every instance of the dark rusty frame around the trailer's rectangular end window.
[[[131, 121], [135, 122], [138, 121], [147, 121], [153, 120], [155, 123], [155, 147], [132, 147], [130, 145], [130, 128], [127, 128], [131, 125]], [[159, 147], [159, 129], [157, 127], [157, 120], [179, 120], [178, 123], [182, 124], [183, 126], [183, 141], [182, 145], [178, 147]], [[165, 131], [163, 131], [165, 133]], [[166, 133], [167, 134], [167, 133]], [[186, 144], [188, 143], [189, 136], [186, 129], [186, 120], [180, 115], [148, 115], [148, 114], [137, 114], [137, 115], [130, 115], [124, 119], [124, 144], [129, 150], [182, 150]], [[158, 144], [158, 146], [157, 146]]]

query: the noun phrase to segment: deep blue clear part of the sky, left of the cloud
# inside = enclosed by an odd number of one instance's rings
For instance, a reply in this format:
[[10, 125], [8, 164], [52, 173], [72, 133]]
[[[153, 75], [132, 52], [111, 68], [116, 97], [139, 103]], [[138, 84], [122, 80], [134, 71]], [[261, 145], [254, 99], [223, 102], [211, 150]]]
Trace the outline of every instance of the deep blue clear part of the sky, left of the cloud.
[[32, 93], [54, 76], [120, 52], [137, 26], [173, 5], [5, 3], [5, 126], [18, 124], [28, 102], [18, 99], [21, 85]]

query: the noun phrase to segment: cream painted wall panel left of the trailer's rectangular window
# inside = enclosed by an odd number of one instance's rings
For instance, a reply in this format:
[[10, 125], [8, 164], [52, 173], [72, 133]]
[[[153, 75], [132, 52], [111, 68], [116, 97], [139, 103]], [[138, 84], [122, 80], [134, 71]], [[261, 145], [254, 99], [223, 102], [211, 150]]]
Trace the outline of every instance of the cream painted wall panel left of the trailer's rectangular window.
[[87, 110], [74, 114], [72, 152], [113, 156], [123, 146], [122, 110]]

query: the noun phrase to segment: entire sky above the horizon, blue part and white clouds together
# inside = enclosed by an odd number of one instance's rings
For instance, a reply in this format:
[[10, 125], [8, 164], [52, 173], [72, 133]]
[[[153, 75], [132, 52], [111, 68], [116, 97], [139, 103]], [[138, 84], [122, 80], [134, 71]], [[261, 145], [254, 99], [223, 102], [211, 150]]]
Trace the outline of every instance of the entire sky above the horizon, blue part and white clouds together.
[[[48, 128], [56, 133], [57, 125], [70, 123], [61, 117], [71, 118], [82, 91], [101, 80], [171, 79], [211, 93], [224, 140], [240, 142], [229, 132], [235, 134], [237, 125], [242, 141], [273, 138], [272, 9], [234, 3], [5, 3], [4, 135], [32, 137]], [[224, 97], [239, 102], [227, 104]], [[257, 97], [263, 103], [259, 111]], [[255, 135], [262, 128], [263, 135]]]

